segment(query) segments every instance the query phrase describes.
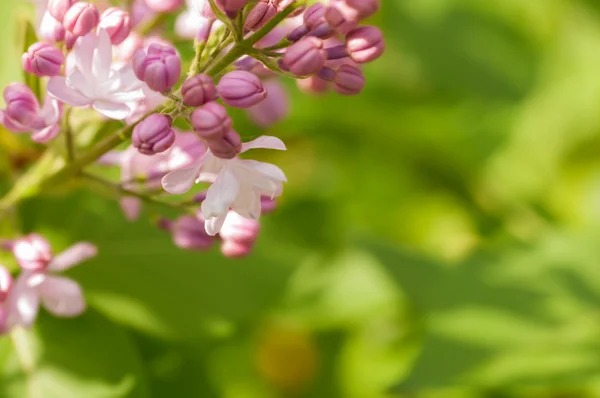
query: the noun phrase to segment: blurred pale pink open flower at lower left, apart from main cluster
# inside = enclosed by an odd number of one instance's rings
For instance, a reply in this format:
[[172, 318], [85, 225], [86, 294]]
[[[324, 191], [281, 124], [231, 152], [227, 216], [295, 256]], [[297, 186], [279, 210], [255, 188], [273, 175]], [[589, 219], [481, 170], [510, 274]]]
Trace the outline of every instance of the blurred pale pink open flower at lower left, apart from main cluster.
[[86, 242], [77, 243], [53, 256], [48, 242], [37, 234], [17, 240], [13, 254], [22, 272], [7, 298], [8, 325], [30, 327], [40, 303], [52, 314], [74, 317], [85, 310], [85, 300], [77, 282], [55, 275], [91, 257], [97, 249]]

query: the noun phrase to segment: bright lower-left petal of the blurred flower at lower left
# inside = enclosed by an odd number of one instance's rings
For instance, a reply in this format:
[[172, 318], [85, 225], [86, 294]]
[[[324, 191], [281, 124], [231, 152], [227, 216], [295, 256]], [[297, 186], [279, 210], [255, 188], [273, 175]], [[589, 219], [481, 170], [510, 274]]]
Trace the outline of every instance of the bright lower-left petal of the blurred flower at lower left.
[[8, 297], [8, 319], [11, 325], [31, 327], [40, 308], [40, 297], [29, 279], [32, 274], [24, 272], [13, 285]]

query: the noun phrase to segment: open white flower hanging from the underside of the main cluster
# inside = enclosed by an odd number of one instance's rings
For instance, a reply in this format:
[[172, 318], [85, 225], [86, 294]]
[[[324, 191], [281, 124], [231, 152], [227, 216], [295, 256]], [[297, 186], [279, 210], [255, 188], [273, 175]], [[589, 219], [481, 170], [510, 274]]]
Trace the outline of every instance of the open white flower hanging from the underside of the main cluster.
[[[279, 138], [262, 136], [242, 144], [241, 152], [256, 148], [286, 149]], [[230, 209], [242, 217], [258, 219], [261, 196], [281, 195], [286, 181], [283, 171], [273, 164], [238, 157], [220, 159], [208, 150], [196, 167], [164, 176], [162, 186], [169, 193], [182, 194], [189, 191], [194, 183], [212, 183], [206, 191], [201, 212], [206, 220], [206, 232], [214, 236], [221, 230]]]

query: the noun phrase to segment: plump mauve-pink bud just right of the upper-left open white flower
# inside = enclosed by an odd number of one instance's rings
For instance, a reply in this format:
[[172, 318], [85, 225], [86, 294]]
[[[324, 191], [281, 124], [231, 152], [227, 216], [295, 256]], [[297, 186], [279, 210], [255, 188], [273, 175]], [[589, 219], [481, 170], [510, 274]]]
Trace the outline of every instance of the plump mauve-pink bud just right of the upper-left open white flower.
[[181, 58], [175, 49], [158, 43], [152, 43], [147, 52], [136, 51], [132, 63], [137, 78], [161, 93], [170, 90], [181, 75]]

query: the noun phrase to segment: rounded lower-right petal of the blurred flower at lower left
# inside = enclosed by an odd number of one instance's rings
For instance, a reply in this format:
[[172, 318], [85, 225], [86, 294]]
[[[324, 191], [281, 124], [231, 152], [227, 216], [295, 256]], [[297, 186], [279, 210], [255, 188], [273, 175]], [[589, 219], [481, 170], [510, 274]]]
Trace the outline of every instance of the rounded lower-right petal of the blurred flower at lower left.
[[85, 310], [83, 293], [77, 282], [60, 277], [48, 276], [38, 287], [44, 307], [57, 316], [72, 317]]

